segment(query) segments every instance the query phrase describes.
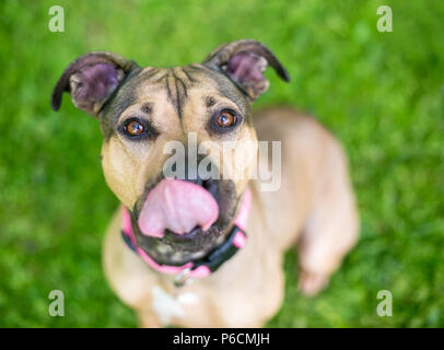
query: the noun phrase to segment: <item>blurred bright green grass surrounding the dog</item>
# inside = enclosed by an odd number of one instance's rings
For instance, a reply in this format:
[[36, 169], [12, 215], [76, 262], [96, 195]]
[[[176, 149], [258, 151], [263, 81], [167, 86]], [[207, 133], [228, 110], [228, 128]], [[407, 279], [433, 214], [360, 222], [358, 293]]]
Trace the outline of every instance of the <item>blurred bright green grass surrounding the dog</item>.
[[[65, 33], [48, 10], [65, 9]], [[376, 9], [394, 32], [376, 31]], [[285, 259], [287, 295], [271, 327], [443, 327], [444, 2], [12, 1], [0, 3], [0, 326], [132, 327], [109, 290], [103, 233], [118, 202], [103, 179], [96, 120], [67, 96], [49, 108], [62, 70], [90, 50], [141, 66], [200, 61], [217, 45], [255, 38], [287, 66], [269, 71], [256, 107], [289, 104], [343, 143], [361, 212], [358, 247], [308, 299]], [[61, 290], [66, 316], [48, 315]], [[393, 317], [376, 294], [393, 293]]]

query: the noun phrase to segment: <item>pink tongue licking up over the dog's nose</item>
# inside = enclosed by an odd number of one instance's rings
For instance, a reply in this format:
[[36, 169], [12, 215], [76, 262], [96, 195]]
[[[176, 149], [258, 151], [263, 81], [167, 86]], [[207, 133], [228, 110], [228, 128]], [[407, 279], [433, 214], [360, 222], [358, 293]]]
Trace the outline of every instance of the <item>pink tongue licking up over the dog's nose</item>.
[[139, 228], [144, 235], [162, 237], [166, 229], [185, 234], [200, 225], [207, 231], [218, 217], [218, 203], [203, 187], [164, 178], [147, 196]]

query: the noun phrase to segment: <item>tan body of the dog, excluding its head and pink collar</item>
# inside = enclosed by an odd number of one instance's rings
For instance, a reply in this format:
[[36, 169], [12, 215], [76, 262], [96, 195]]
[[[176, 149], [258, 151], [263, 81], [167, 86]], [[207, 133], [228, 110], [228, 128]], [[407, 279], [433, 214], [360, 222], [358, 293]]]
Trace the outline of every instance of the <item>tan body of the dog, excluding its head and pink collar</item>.
[[[175, 288], [171, 276], [153, 272], [128, 249], [120, 211], [114, 218], [104, 245], [106, 276], [139, 313], [142, 326], [161, 326], [162, 320], [187, 327], [261, 326], [281, 305], [283, 253], [297, 238], [300, 287], [308, 294], [324, 287], [353, 246], [357, 213], [337, 141], [314, 119], [287, 108], [264, 110], [255, 121], [259, 140], [282, 140], [282, 186], [265, 192], [250, 183], [248, 243], [217, 273]], [[161, 290], [172, 300], [159, 298]], [[190, 296], [189, 303], [180, 295]], [[168, 305], [163, 311], [156, 303]]]

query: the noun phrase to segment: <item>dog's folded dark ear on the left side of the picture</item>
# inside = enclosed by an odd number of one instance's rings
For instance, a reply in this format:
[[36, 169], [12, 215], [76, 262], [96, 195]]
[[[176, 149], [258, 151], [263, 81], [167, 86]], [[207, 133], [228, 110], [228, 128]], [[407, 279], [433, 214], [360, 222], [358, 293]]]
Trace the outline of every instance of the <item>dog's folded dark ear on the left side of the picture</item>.
[[51, 107], [59, 110], [63, 92], [71, 94], [80, 109], [97, 116], [107, 98], [138, 66], [116, 54], [95, 51], [75, 59], [52, 91]]

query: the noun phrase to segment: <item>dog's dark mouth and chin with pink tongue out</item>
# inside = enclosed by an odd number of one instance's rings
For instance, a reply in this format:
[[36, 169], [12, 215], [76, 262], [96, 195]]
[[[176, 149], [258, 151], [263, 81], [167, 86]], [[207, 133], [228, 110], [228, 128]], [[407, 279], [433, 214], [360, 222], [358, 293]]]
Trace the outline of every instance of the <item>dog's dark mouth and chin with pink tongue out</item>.
[[226, 231], [235, 207], [231, 180], [163, 178], [150, 189], [135, 218], [139, 244], [154, 255], [203, 252]]

